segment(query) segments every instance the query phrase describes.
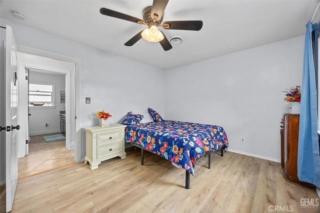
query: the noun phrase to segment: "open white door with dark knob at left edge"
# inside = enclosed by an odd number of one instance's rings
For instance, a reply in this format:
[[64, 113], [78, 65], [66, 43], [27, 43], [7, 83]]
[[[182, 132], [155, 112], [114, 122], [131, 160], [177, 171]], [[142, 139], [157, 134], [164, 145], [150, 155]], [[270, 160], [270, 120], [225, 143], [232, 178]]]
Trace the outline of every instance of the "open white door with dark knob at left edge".
[[6, 26], [5, 37], [5, 182], [6, 212], [11, 211], [18, 178], [17, 141], [17, 51], [12, 29]]

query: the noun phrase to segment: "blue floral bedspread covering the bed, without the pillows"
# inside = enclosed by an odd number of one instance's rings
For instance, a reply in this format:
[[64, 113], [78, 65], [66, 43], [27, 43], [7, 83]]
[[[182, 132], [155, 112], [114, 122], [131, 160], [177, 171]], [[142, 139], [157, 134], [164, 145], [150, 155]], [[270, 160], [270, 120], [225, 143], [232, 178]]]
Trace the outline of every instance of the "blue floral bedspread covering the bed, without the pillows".
[[228, 146], [226, 134], [220, 126], [169, 120], [127, 125], [125, 140], [171, 161], [191, 175], [194, 175], [197, 159]]

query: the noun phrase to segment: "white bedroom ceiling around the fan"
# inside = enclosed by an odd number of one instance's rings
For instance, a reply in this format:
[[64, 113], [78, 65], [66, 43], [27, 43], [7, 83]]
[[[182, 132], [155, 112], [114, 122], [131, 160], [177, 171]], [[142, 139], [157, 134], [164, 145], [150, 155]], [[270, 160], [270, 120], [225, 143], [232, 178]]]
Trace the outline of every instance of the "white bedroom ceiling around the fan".
[[[101, 15], [106, 7], [142, 19], [152, 0], [0, 0], [0, 16], [107, 52], [168, 69], [243, 49], [303, 35], [319, 0], [169, 0], [163, 21], [202, 20], [200, 31], [166, 30], [183, 43], [163, 51], [140, 39], [124, 46], [145, 28]], [[14, 18], [22, 13], [25, 20]]]

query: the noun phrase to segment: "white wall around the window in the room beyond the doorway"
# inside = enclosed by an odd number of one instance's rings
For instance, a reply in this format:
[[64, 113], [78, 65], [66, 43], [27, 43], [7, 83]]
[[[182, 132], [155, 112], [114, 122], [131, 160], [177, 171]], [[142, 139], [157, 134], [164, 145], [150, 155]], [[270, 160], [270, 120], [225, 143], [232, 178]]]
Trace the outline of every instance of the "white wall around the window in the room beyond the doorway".
[[[60, 101], [60, 91], [65, 91], [65, 75], [29, 71], [29, 83], [54, 85], [54, 108], [29, 107], [29, 134], [40, 135], [60, 132], [60, 111], [65, 110], [65, 103]], [[45, 127], [45, 124], [48, 124]]]

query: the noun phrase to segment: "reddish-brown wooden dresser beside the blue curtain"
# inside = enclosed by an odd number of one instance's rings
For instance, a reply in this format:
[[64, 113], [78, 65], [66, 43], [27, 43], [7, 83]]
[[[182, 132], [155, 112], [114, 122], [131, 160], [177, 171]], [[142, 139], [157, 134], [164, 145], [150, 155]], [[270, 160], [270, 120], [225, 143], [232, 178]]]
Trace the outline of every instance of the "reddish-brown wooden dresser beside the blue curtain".
[[299, 114], [284, 114], [281, 123], [282, 177], [289, 183], [315, 189], [312, 184], [301, 182], [297, 177]]

